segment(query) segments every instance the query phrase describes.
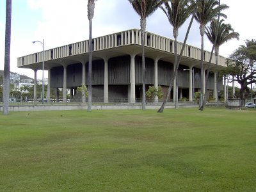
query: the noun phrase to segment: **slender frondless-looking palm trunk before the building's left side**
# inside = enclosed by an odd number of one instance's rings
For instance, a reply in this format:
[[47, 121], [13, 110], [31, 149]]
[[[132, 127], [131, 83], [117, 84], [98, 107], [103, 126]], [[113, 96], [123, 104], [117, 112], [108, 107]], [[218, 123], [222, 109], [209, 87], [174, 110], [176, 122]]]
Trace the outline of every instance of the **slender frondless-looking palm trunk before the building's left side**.
[[95, 1], [88, 0], [87, 12], [89, 20], [89, 66], [88, 66], [88, 108], [87, 111], [92, 111], [92, 19], [94, 16]]

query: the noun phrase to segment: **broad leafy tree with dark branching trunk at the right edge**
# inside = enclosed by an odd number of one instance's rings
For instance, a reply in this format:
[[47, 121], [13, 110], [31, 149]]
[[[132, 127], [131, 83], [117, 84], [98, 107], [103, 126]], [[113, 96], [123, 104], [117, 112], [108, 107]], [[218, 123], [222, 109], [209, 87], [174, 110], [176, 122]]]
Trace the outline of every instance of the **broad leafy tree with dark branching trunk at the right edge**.
[[[252, 63], [253, 60], [253, 63]], [[222, 71], [223, 75], [229, 75], [232, 81], [240, 84], [241, 105], [245, 103], [246, 97], [250, 95], [249, 84], [256, 83], [256, 46], [240, 46], [229, 56], [228, 67]]]

